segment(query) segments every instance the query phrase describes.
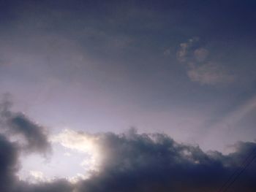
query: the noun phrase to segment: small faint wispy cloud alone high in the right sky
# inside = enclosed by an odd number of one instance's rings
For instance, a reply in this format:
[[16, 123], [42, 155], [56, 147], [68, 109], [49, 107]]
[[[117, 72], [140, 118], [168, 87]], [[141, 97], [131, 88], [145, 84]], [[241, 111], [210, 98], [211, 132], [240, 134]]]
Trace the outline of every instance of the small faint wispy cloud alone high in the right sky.
[[202, 47], [198, 37], [193, 37], [180, 44], [177, 59], [187, 66], [190, 80], [201, 85], [223, 85], [235, 80], [222, 64], [211, 61], [209, 51]]

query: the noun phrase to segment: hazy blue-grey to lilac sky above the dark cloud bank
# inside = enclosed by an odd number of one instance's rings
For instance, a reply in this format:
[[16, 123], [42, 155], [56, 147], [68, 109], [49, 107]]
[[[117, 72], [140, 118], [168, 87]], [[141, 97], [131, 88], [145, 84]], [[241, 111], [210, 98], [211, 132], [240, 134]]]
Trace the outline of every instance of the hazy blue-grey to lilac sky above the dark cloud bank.
[[[0, 0], [0, 95], [48, 130], [55, 155], [70, 156], [52, 138], [61, 133], [118, 137], [131, 127], [228, 153], [256, 139], [255, 7]], [[30, 158], [23, 167], [39, 157]]]

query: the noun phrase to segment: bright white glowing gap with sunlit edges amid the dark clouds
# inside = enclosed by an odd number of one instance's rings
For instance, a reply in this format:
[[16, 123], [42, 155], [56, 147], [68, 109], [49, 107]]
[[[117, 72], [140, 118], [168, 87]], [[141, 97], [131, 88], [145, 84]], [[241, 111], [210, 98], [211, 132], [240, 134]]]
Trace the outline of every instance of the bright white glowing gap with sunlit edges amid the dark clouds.
[[20, 180], [30, 183], [66, 178], [72, 183], [84, 180], [99, 169], [97, 137], [65, 129], [51, 137], [53, 153], [50, 158], [29, 155], [21, 158]]

